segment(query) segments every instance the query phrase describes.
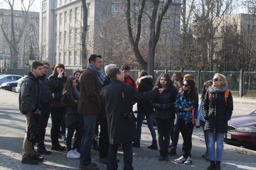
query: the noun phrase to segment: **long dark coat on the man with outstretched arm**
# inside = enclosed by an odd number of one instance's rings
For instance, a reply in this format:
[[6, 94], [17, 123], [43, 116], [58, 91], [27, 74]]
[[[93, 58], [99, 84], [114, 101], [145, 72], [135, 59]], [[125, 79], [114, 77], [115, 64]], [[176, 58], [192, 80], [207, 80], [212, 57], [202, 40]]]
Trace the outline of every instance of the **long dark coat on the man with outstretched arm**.
[[124, 104], [122, 101], [122, 86], [124, 91], [125, 109], [133, 113], [133, 102], [153, 100], [159, 97], [159, 90], [138, 93], [129, 84], [122, 84], [119, 80], [113, 80], [100, 91], [99, 105], [106, 114], [108, 123], [108, 136], [111, 144], [128, 143], [137, 140], [136, 120], [123, 116]]

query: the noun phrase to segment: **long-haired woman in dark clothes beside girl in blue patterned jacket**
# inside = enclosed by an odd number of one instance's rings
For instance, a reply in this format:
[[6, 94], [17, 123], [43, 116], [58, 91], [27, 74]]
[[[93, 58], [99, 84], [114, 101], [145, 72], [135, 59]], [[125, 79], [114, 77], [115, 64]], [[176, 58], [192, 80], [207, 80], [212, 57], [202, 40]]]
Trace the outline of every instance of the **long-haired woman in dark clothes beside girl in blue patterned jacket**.
[[175, 119], [174, 102], [177, 96], [177, 89], [173, 85], [167, 73], [163, 73], [158, 78], [155, 87], [163, 88], [160, 97], [150, 101], [151, 106], [155, 108], [154, 118], [157, 124], [158, 143], [160, 156], [158, 160], [168, 161], [168, 149], [170, 143], [170, 131]]

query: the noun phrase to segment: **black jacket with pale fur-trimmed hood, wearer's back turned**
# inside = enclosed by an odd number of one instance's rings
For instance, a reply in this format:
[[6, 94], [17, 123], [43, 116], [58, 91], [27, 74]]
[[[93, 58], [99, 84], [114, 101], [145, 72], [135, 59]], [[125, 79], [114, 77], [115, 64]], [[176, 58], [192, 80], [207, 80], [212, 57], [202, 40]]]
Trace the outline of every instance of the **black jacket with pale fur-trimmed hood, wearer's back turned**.
[[[139, 79], [138, 84], [138, 92], [147, 92], [152, 90], [154, 87], [154, 84], [152, 83], [152, 76], [143, 76]], [[154, 109], [150, 105], [150, 101], [144, 101], [144, 102], [138, 102], [137, 108], [139, 112], [143, 113], [153, 113]]]

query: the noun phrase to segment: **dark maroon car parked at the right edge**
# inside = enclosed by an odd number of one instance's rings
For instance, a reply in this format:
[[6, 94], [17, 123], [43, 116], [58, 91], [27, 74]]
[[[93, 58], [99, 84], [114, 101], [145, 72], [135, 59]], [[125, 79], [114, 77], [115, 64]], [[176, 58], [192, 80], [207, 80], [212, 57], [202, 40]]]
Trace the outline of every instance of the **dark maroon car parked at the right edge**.
[[256, 149], [256, 110], [248, 115], [232, 116], [228, 121], [228, 133], [224, 141], [239, 147]]

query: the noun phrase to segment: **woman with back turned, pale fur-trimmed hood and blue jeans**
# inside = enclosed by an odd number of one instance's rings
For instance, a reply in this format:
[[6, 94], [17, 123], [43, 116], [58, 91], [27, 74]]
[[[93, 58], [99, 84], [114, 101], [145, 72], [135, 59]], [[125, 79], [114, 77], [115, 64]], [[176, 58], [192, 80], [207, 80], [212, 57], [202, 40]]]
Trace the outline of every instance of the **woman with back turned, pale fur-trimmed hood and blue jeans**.
[[[154, 84], [152, 83], [152, 76], [148, 75], [145, 70], [141, 70], [136, 81], [138, 86], [138, 92], [147, 92], [153, 89]], [[137, 114], [137, 141], [133, 142], [133, 147], [140, 147], [140, 137], [141, 137], [141, 126], [146, 116], [147, 127], [150, 129], [152, 136], [152, 144], [147, 146], [149, 149], [157, 150], [157, 137], [156, 131], [153, 125], [153, 112], [154, 109], [150, 106], [150, 101], [138, 102], [137, 104], [138, 114]]]

